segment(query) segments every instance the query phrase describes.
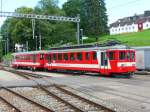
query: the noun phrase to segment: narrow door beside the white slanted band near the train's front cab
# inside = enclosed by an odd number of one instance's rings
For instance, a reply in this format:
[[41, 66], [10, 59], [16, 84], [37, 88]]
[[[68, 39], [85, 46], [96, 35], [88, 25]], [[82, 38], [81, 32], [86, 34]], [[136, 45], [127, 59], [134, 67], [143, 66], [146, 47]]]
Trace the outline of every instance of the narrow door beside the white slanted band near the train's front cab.
[[103, 74], [108, 74], [108, 58], [106, 52], [101, 52], [101, 69]]

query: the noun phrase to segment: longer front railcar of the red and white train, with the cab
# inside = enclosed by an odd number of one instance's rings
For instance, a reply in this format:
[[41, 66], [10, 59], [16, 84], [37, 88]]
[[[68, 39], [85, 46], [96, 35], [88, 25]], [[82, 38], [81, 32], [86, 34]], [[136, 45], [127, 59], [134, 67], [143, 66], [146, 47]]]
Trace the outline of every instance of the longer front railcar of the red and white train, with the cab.
[[129, 75], [136, 70], [135, 50], [125, 46], [51, 49], [46, 54], [45, 68]]

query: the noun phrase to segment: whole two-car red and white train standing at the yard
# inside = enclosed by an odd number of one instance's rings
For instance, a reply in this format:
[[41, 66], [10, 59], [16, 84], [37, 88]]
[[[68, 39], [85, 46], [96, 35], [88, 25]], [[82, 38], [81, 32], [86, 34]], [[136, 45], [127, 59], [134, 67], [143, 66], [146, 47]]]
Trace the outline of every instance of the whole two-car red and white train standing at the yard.
[[107, 76], [129, 75], [136, 70], [135, 50], [125, 46], [58, 48], [13, 55], [14, 68], [97, 72]]

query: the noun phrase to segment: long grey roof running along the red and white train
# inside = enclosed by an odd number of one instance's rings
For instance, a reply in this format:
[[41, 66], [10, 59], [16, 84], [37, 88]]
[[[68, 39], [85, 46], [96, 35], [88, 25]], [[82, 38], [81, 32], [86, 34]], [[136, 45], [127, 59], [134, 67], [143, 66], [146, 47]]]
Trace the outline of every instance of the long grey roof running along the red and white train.
[[111, 42], [105, 45], [86, 44], [86, 45], [65, 46], [65, 47], [57, 47], [57, 48], [55, 47], [55, 48], [50, 48], [49, 50], [13, 53], [13, 55], [37, 54], [37, 53], [47, 53], [47, 52], [80, 52], [80, 51], [91, 51], [91, 50], [97, 51], [97, 50], [127, 50], [127, 49], [134, 50], [134, 48]]

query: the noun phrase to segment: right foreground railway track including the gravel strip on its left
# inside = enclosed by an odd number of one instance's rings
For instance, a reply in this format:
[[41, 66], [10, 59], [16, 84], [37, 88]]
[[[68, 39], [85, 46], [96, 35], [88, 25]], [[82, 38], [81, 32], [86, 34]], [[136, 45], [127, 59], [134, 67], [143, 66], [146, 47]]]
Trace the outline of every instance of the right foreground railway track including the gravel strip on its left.
[[40, 86], [40, 88], [38, 86], [30, 91], [26, 91], [26, 89], [14, 89], [14, 91], [53, 109], [55, 112], [114, 112], [58, 85]]

